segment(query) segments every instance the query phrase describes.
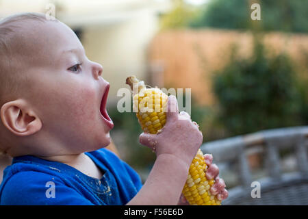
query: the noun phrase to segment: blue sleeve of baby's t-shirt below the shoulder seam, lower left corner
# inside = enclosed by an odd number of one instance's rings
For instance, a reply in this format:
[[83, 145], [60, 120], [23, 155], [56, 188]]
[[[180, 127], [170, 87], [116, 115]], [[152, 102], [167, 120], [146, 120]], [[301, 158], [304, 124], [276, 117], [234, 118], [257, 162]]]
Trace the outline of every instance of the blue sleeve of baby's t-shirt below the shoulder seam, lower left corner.
[[5, 183], [1, 205], [94, 205], [62, 179], [43, 172], [18, 172]]

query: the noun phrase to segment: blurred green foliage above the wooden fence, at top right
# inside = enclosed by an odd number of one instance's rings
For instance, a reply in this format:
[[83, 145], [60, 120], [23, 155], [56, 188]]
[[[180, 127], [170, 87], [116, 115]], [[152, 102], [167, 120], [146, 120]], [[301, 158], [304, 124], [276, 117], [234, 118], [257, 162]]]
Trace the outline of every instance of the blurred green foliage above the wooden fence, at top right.
[[[261, 20], [251, 20], [251, 4], [261, 6]], [[308, 1], [211, 0], [190, 27], [251, 29], [257, 23], [264, 31], [308, 32]]]

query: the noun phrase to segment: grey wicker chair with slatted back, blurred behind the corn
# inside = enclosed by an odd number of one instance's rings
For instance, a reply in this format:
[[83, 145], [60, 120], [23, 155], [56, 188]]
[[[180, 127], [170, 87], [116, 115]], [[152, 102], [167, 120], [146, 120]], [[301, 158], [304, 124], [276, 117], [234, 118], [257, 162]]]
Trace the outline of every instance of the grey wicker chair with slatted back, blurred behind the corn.
[[[308, 127], [292, 127], [259, 131], [245, 136], [208, 142], [201, 146], [203, 153], [211, 153], [220, 167], [220, 177], [228, 185], [223, 166], [234, 164], [240, 183], [228, 188], [229, 198], [223, 205], [308, 205]], [[281, 151], [294, 155], [297, 168], [283, 172]], [[293, 153], [292, 153], [293, 152]], [[253, 177], [248, 156], [263, 153], [265, 164], [262, 177]], [[226, 171], [227, 172], [227, 171]], [[261, 197], [252, 198], [253, 181], [258, 181]]]

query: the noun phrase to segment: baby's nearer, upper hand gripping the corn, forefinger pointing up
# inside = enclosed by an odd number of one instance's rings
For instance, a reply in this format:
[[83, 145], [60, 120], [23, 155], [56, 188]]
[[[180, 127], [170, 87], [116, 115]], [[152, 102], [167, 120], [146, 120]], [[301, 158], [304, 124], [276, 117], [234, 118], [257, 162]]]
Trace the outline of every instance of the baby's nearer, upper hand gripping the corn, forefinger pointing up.
[[175, 96], [169, 96], [166, 125], [155, 135], [142, 133], [139, 140], [140, 144], [155, 151], [157, 157], [163, 154], [175, 155], [190, 165], [202, 144], [203, 136], [189, 114], [179, 114]]

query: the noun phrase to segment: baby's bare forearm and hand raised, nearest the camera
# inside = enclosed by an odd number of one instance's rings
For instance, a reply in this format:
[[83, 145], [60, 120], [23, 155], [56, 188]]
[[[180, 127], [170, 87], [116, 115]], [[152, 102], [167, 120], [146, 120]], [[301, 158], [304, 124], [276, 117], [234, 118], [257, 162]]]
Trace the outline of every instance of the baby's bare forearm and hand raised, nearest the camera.
[[127, 205], [177, 205], [202, 139], [189, 116], [179, 114], [175, 96], [169, 96], [162, 132], [140, 135], [140, 143], [153, 149], [157, 159], [140, 192]]

